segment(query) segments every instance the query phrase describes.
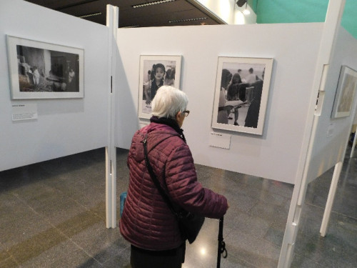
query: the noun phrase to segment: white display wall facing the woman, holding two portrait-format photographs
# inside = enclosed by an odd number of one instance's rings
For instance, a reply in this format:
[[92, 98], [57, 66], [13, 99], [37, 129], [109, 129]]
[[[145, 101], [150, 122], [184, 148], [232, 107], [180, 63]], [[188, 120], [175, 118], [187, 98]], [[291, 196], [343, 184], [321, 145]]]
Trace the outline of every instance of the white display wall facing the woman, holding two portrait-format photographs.
[[[294, 183], [298, 172], [323, 24], [250, 24], [118, 29], [116, 146], [139, 128], [140, 55], [182, 55], [181, 88], [191, 114], [183, 129], [197, 164]], [[302, 34], [303, 33], [303, 36]], [[155, 40], [155, 41], [154, 41]], [[262, 136], [231, 134], [231, 148], [210, 147], [218, 56], [273, 58]], [[313, 116], [313, 115], [312, 115]], [[302, 165], [303, 167], [303, 165]]]

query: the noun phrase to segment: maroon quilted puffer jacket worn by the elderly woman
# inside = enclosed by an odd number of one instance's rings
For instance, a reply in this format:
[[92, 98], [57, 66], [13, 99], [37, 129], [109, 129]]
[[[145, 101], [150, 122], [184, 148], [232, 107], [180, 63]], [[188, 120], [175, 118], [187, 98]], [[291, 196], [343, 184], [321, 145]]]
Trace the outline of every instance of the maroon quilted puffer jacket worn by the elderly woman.
[[146, 169], [142, 144], [146, 134], [151, 166], [171, 201], [188, 212], [218, 219], [228, 209], [227, 199], [197, 182], [191, 151], [171, 126], [151, 122], [136, 131], [128, 156], [130, 182], [120, 232], [142, 249], [174, 249], [183, 239]]

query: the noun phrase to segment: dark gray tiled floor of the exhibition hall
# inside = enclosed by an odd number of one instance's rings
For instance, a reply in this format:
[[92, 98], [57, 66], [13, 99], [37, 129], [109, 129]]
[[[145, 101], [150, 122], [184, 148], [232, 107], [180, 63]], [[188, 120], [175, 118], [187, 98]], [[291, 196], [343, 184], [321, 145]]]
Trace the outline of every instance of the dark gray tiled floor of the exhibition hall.
[[[128, 187], [117, 150], [119, 194]], [[0, 267], [130, 267], [130, 247], [105, 225], [104, 149], [0, 172]], [[221, 267], [276, 267], [293, 186], [196, 166], [230, 209]], [[333, 169], [308, 186], [291, 267], [357, 267], [357, 159], [346, 159], [326, 237], [319, 228]], [[206, 219], [183, 268], [216, 267], [218, 220]]]

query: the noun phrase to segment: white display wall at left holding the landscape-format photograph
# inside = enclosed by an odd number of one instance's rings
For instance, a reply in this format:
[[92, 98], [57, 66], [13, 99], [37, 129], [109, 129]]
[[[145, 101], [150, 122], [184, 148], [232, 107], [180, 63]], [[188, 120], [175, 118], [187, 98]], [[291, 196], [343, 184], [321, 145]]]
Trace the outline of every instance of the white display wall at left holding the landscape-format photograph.
[[[84, 99], [11, 100], [6, 34], [84, 49]], [[26, 1], [0, 1], [0, 171], [106, 146], [108, 34]], [[36, 104], [38, 119], [11, 121], [12, 104]]]

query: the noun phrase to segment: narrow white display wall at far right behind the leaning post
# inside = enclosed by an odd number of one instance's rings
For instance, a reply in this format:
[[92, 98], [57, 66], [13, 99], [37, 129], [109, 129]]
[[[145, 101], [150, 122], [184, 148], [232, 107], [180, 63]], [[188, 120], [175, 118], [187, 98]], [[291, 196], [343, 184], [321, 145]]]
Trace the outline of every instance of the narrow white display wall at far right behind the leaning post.
[[347, 65], [357, 70], [357, 40], [345, 29], [340, 27], [331, 58], [331, 66], [328, 69], [328, 79], [326, 80], [325, 98], [321, 116], [316, 117], [318, 122], [316, 137], [313, 137], [313, 151], [308, 170], [309, 182], [316, 179], [316, 177], [323, 174], [323, 172], [326, 172], [326, 170], [333, 167], [337, 162], [343, 161], [345, 157], [344, 153], [349, 134], [351, 133], [354, 114], [356, 113], [357, 94], [355, 94], [350, 116], [331, 119], [338, 76], [342, 65]]

